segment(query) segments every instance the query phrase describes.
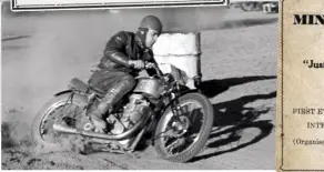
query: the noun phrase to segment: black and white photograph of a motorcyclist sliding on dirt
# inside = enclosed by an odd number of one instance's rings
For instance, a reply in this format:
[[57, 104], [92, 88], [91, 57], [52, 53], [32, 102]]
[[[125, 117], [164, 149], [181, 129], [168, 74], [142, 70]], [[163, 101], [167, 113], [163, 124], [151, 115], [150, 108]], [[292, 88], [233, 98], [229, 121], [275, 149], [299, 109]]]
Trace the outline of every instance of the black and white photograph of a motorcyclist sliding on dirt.
[[277, 0], [14, 2], [1, 0], [2, 170], [275, 169]]

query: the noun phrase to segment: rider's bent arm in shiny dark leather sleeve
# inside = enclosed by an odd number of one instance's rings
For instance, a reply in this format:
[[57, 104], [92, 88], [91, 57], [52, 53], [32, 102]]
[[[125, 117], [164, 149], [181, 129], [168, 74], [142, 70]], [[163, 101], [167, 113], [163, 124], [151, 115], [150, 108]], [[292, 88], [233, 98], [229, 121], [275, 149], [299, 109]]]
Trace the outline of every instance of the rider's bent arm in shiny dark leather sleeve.
[[126, 47], [128, 36], [121, 31], [114, 34], [107, 43], [104, 49], [104, 57], [111, 61], [129, 67], [129, 58], [123, 53]]

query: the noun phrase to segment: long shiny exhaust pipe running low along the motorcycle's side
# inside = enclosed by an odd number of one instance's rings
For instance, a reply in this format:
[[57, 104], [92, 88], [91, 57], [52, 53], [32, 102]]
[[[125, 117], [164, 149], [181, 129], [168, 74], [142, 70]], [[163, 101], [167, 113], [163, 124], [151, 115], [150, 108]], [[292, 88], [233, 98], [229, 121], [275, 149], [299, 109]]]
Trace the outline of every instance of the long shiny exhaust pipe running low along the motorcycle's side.
[[95, 132], [91, 132], [91, 131], [78, 130], [78, 129], [73, 129], [70, 127], [65, 127], [62, 124], [55, 124], [55, 123], [53, 124], [53, 129], [58, 132], [120, 141], [120, 140], [125, 140], [125, 139], [133, 136], [133, 134], [135, 134], [135, 132], [145, 124], [145, 122], [149, 120], [150, 115], [143, 115], [143, 118], [145, 118], [145, 119], [140, 120], [132, 129], [130, 129], [126, 132], [121, 133], [119, 135], [108, 135], [108, 134], [103, 134], [103, 133], [95, 133]]

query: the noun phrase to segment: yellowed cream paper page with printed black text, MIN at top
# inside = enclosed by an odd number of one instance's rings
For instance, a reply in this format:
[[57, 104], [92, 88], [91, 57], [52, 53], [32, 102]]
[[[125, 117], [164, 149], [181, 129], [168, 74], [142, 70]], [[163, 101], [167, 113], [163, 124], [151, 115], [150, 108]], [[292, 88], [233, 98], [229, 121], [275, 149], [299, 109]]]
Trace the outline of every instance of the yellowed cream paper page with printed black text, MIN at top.
[[277, 170], [324, 170], [324, 2], [283, 0], [280, 12]]

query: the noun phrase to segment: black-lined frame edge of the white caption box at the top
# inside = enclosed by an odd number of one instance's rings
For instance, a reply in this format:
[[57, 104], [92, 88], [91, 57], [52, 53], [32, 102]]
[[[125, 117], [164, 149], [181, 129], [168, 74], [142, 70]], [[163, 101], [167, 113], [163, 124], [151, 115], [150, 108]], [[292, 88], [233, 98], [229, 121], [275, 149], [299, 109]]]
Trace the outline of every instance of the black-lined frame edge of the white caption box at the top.
[[[189, 0], [190, 1], [190, 0]], [[42, 11], [42, 10], [78, 10], [78, 9], [138, 9], [138, 8], [179, 8], [179, 7], [215, 7], [215, 6], [229, 6], [230, 0], [219, 0], [215, 2], [201, 0], [201, 2], [196, 2], [196, 0], [192, 0], [193, 2], [120, 2], [120, 3], [62, 3], [62, 4], [26, 4], [19, 6], [17, 4], [17, 0], [10, 0], [11, 10], [12, 11]]]

